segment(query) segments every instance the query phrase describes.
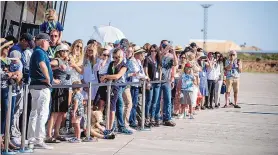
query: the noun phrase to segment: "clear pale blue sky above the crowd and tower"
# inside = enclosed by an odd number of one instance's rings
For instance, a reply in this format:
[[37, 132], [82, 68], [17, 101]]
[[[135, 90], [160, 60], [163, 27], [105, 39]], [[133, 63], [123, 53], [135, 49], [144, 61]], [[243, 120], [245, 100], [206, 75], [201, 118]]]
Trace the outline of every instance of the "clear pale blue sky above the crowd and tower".
[[130, 41], [144, 45], [172, 40], [186, 45], [202, 39], [203, 8], [208, 10], [208, 39], [278, 50], [278, 2], [74, 2], [68, 3], [64, 39], [85, 43], [93, 26], [111, 25]]

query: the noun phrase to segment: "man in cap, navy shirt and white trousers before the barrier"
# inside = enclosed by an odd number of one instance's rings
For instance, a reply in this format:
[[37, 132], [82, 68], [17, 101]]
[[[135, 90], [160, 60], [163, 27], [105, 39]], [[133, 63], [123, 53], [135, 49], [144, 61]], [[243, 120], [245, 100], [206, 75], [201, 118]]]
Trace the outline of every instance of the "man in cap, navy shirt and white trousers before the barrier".
[[31, 89], [32, 103], [29, 117], [27, 138], [36, 148], [53, 149], [44, 143], [46, 135], [45, 124], [49, 115], [50, 89], [53, 73], [47, 50], [50, 37], [46, 33], [36, 36], [36, 47], [30, 59], [30, 78], [32, 85], [44, 85], [43, 88]]

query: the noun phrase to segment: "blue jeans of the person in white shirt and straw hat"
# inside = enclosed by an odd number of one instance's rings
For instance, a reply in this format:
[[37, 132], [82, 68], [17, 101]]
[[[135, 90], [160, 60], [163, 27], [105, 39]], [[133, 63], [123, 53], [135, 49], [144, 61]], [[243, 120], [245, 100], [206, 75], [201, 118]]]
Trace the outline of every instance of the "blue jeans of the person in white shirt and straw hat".
[[130, 88], [130, 93], [132, 96], [132, 108], [130, 111], [130, 116], [129, 116], [129, 124], [131, 126], [136, 126], [136, 109], [138, 105], [138, 97], [139, 97], [139, 88], [131, 86]]

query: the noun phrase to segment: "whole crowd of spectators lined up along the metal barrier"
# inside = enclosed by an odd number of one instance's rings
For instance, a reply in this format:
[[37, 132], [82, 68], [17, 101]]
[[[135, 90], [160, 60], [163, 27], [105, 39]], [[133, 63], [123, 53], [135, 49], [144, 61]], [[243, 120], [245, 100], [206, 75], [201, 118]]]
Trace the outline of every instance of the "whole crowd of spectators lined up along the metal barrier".
[[[131, 135], [141, 127], [174, 127], [173, 118], [194, 119], [199, 110], [237, 104], [242, 62], [237, 52], [228, 57], [206, 52], [195, 43], [184, 49], [168, 40], [143, 47], [124, 38], [102, 45], [94, 39], [86, 44], [77, 39], [72, 44], [62, 40], [63, 27], [55, 21], [55, 10], [33, 37], [24, 33], [19, 41], [1, 39], [1, 134], [5, 134], [9, 86], [12, 86], [12, 110], [9, 148], [20, 146], [23, 85], [30, 89], [27, 139], [35, 148], [53, 149], [46, 143], [82, 142], [89, 130], [92, 137], [115, 139], [115, 133]], [[145, 109], [141, 109], [141, 84], [112, 85], [110, 103], [107, 87], [51, 88], [52, 85], [146, 81]], [[151, 81], [167, 81], [150, 83]], [[230, 102], [233, 90], [234, 102]], [[91, 92], [91, 127], [86, 127], [87, 104]], [[220, 102], [220, 95], [225, 101]], [[107, 105], [110, 104], [110, 109]], [[109, 122], [104, 123], [110, 110]], [[73, 138], [65, 135], [74, 134]], [[2, 137], [1, 136], [1, 137]], [[1, 148], [3, 149], [3, 140]]]

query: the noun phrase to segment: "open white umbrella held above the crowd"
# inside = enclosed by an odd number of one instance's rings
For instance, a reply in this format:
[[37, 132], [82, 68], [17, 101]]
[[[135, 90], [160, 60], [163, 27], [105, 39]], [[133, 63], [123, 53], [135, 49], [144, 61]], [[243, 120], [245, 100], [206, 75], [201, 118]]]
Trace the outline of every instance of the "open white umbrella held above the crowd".
[[94, 26], [94, 33], [91, 37], [100, 43], [114, 43], [116, 40], [121, 40], [125, 38], [125, 35], [121, 30], [113, 26]]

